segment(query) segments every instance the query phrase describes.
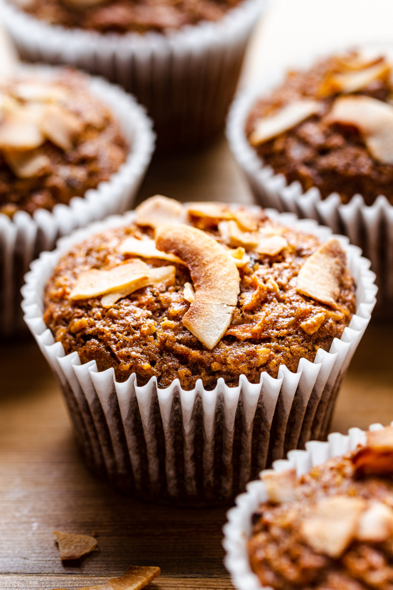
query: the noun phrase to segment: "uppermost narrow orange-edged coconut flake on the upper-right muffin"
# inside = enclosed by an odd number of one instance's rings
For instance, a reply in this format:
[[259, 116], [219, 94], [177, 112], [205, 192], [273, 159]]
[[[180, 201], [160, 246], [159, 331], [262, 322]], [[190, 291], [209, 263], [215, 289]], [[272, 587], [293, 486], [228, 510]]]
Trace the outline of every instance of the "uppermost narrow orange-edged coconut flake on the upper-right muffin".
[[332, 74], [326, 80], [324, 88], [326, 94], [357, 92], [369, 86], [369, 84], [388, 78], [391, 66], [385, 62], [371, 65], [364, 70], [351, 71], [343, 74]]

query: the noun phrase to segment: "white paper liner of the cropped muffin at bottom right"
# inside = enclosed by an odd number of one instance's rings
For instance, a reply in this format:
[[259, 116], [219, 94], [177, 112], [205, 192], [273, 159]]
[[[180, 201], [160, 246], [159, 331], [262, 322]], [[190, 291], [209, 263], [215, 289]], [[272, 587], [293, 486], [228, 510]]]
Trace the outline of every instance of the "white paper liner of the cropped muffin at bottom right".
[[[393, 422], [391, 422], [393, 426]], [[382, 424], [372, 424], [369, 430], [380, 430]], [[290, 451], [288, 459], [276, 461], [275, 471], [296, 469], [298, 476], [312, 467], [325, 463], [332, 457], [340, 457], [354, 451], [358, 444], [365, 443], [365, 431], [350, 428], [347, 435], [332, 432], [327, 442], [310, 441], [305, 451]], [[272, 590], [262, 586], [259, 578], [250, 568], [247, 541], [252, 534], [252, 515], [259, 505], [268, 500], [265, 483], [261, 479], [247, 484], [247, 491], [236, 498], [236, 507], [227, 513], [228, 522], [223, 527], [223, 546], [226, 550], [225, 565], [237, 590]]]

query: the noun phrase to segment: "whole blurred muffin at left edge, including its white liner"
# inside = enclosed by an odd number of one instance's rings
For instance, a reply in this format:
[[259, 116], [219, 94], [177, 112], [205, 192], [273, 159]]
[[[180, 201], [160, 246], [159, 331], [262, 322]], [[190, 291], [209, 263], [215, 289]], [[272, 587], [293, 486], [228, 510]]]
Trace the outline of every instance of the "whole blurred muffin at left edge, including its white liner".
[[9, 335], [23, 325], [18, 292], [31, 260], [130, 205], [153, 135], [125, 93], [75, 70], [19, 67], [0, 92], [0, 332]]

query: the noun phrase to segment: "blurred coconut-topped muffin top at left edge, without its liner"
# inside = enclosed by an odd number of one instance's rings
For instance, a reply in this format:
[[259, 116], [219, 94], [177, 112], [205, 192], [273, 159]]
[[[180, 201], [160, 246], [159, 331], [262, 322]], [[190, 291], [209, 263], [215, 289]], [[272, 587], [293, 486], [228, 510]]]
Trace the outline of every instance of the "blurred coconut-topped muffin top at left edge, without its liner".
[[0, 213], [67, 205], [126, 159], [118, 123], [83, 74], [20, 74], [1, 80], [0, 94]]

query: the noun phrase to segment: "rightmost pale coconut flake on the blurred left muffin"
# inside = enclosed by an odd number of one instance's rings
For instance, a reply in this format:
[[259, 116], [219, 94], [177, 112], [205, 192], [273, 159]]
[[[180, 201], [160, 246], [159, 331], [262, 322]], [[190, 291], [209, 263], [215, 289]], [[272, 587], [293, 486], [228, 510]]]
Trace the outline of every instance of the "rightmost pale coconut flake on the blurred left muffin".
[[64, 151], [72, 149], [74, 140], [84, 129], [81, 119], [57, 104], [48, 104], [41, 122], [41, 132]]

